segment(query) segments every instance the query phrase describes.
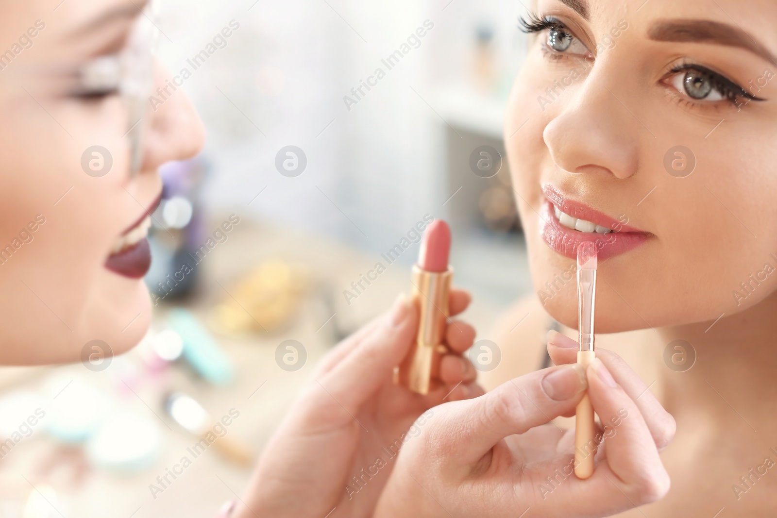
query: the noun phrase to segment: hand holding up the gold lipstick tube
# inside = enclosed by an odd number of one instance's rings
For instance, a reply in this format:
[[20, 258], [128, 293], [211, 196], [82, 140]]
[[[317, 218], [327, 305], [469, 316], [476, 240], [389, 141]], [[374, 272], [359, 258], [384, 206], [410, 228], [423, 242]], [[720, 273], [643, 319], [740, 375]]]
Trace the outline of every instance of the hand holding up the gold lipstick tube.
[[[451, 290], [451, 315], [464, 311], [469, 301], [469, 294]], [[422, 396], [393, 384], [393, 367], [417, 328], [416, 304], [400, 297], [389, 314], [327, 354], [267, 444], [232, 516], [371, 516], [396, 452], [419, 433], [420, 425], [411, 429], [413, 422], [434, 415], [437, 410], [430, 408], [444, 401], [483, 394], [475, 368], [461, 356], [475, 330], [461, 321], [448, 325], [451, 353], [441, 363], [444, 385]]]

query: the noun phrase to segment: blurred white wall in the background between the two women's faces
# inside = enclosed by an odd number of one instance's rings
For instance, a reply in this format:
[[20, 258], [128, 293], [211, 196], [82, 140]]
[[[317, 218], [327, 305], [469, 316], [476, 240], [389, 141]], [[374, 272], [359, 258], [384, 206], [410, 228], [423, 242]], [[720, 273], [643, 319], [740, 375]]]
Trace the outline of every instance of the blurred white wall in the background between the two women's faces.
[[[476, 29], [486, 26], [494, 33], [497, 80], [493, 91], [478, 95], [501, 106], [524, 51], [517, 30], [523, 9], [507, 0], [165, 0], [159, 55], [173, 72], [230, 20], [239, 23], [226, 47], [182, 87], [207, 127], [209, 209], [376, 251], [423, 214], [444, 217], [442, 203], [451, 195], [446, 121], [468, 104], [467, 96], [444, 92], [471, 89]], [[425, 20], [434, 28], [389, 70], [382, 59]], [[385, 78], [348, 110], [343, 96], [376, 68]], [[455, 117], [455, 124], [477, 124], [478, 117]], [[500, 120], [492, 116], [487, 124], [498, 133]], [[274, 164], [290, 144], [308, 159], [296, 178], [281, 176]]]

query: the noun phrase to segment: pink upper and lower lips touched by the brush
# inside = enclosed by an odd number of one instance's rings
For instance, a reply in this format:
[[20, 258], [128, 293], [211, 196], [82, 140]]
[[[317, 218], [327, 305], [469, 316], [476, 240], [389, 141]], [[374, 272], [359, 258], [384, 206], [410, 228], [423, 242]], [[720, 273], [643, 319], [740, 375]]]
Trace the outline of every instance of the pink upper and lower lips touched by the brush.
[[[545, 184], [542, 186], [542, 191], [545, 193], [546, 199], [540, 209], [540, 233], [545, 243], [562, 256], [576, 259], [577, 248], [580, 244], [593, 242], [596, 245], [598, 258], [600, 260], [608, 259], [636, 248], [649, 237], [647, 232], [622, 224], [620, 221], [588, 207], [584, 203], [570, 200], [554, 186]], [[609, 232], [608, 234], [598, 234], [596, 232], [580, 232], [566, 228], [556, 217], [553, 211], [554, 205], [572, 217], [591, 221], [594, 224], [617, 231]]]

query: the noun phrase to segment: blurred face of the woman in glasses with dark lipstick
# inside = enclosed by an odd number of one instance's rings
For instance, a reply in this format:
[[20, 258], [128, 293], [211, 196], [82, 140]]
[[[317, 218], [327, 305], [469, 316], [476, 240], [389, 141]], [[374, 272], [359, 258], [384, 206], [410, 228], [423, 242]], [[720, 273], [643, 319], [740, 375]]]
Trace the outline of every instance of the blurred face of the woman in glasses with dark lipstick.
[[[0, 363], [75, 361], [94, 339], [122, 353], [148, 327], [142, 237], [157, 168], [196, 154], [204, 132], [180, 91], [156, 111], [146, 95], [131, 120], [103, 80], [127, 61], [94, 61], [127, 49], [144, 3], [0, 0]], [[139, 77], [155, 89], [166, 76], [147, 63]]]

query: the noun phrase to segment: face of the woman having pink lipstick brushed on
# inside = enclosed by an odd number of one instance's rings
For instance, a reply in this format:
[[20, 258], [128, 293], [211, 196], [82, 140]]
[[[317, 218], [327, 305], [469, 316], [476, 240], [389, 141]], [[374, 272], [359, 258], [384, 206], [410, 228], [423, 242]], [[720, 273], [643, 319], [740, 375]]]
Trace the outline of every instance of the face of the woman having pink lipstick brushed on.
[[770, 296], [777, 5], [539, 0], [536, 14], [505, 140], [547, 311], [577, 326], [585, 241], [599, 249], [600, 332], [714, 320]]

